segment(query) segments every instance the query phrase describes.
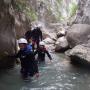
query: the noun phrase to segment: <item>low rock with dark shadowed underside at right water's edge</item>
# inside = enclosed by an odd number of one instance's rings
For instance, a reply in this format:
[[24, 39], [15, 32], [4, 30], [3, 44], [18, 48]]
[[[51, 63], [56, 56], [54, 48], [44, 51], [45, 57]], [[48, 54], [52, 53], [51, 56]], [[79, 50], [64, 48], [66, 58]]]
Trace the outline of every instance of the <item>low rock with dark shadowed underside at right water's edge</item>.
[[77, 45], [68, 52], [72, 62], [79, 64], [90, 63], [90, 48], [84, 45]]

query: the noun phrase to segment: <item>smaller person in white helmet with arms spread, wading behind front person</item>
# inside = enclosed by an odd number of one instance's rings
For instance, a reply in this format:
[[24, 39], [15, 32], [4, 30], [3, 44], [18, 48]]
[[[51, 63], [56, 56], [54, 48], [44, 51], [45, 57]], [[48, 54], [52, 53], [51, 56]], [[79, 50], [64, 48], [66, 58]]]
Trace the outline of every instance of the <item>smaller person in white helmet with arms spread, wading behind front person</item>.
[[50, 60], [52, 60], [51, 55], [49, 54], [48, 50], [46, 50], [45, 48], [45, 44], [44, 42], [40, 42], [40, 46], [39, 48], [35, 51], [34, 55], [38, 54], [38, 62], [45, 62], [45, 55], [47, 54], [47, 56], [49, 57]]

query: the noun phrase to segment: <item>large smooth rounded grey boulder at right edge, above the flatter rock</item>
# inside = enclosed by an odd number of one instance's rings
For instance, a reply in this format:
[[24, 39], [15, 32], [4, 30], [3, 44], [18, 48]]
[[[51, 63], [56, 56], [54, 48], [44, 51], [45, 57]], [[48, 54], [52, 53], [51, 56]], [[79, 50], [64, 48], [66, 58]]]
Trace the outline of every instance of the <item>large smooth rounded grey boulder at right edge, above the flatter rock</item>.
[[71, 48], [90, 40], [90, 25], [74, 24], [67, 32], [67, 40]]

